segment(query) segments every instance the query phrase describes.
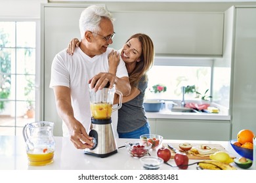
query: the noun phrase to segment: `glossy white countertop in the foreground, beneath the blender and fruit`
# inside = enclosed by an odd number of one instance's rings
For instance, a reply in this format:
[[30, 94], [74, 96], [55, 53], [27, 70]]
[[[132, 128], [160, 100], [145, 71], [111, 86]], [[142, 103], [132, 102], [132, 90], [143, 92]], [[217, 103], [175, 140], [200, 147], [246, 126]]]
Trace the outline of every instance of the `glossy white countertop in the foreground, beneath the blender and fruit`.
[[[82, 150], [75, 149], [68, 137], [54, 137], [56, 149], [54, 152], [54, 162], [50, 165], [33, 167], [28, 165], [26, 156], [25, 142], [23, 137], [18, 136], [0, 136], [0, 170], [142, 170], [139, 159], [131, 157], [125, 147], [119, 148], [118, 152], [106, 158], [98, 158], [88, 154], [83, 154]], [[126, 141], [131, 139], [117, 139], [117, 147], [123, 146]], [[163, 143], [179, 143], [184, 141], [164, 140]], [[221, 144], [228, 153], [240, 157], [230, 146], [228, 141], [186, 141], [200, 144]], [[156, 150], [150, 152], [151, 156], [156, 156]], [[190, 159], [189, 163], [196, 162], [196, 159]], [[169, 163], [175, 165], [174, 159]], [[234, 163], [232, 165], [236, 166]], [[161, 170], [174, 169], [163, 164]], [[188, 169], [196, 170], [196, 165], [189, 166]], [[238, 168], [239, 169], [239, 168]]]

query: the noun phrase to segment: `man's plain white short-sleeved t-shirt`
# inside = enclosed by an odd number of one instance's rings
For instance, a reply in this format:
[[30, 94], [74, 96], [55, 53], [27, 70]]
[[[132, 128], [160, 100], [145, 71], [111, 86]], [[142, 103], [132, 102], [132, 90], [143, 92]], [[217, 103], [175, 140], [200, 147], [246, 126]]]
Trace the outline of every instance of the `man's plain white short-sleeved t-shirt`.
[[[53, 59], [51, 68], [50, 88], [53, 86], [67, 86], [71, 91], [72, 107], [75, 118], [83, 124], [87, 133], [91, 123], [91, 110], [89, 99], [88, 80], [98, 73], [108, 73], [108, 54], [112, 51], [108, 48], [106, 52], [90, 58], [80, 48], [75, 48], [73, 56], [62, 50]], [[125, 63], [120, 60], [116, 76], [128, 77]], [[112, 114], [112, 125], [117, 135], [117, 111]], [[69, 136], [68, 127], [62, 123], [63, 136]]]

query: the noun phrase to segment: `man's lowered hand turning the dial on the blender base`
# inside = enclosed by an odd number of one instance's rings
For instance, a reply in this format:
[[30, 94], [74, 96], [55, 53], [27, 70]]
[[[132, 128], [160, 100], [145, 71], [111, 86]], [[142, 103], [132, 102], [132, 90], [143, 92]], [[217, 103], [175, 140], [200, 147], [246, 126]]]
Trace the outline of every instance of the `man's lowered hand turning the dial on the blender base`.
[[75, 120], [72, 122], [72, 125], [68, 127], [70, 131], [70, 140], [73, 142], [75, 148], [77, 149], [85, 149], [85, 148], [93, 148], [93, 137], [87, 135], [85, 127]]

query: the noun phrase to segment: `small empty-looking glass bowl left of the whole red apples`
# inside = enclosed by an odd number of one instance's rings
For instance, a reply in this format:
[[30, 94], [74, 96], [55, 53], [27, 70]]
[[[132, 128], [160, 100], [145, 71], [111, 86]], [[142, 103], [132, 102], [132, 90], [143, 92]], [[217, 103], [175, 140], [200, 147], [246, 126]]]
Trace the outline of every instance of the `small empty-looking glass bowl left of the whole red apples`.
[[163, 159], [154, 156], [144, 156], [140, 158], [140, 162], [145, 170], [158, 170], [163, 164]]

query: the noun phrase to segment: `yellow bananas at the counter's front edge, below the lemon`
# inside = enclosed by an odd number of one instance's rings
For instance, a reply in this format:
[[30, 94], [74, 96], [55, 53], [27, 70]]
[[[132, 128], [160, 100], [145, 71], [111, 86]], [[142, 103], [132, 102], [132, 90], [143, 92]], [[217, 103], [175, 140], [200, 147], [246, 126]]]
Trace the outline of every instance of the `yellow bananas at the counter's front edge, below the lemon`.
[[216, 160], [203, 160], [198, 162], [198, 167], [207, 170], [236, 170], [236, 167], [232, 167], [229, 164], [216, 161]]

